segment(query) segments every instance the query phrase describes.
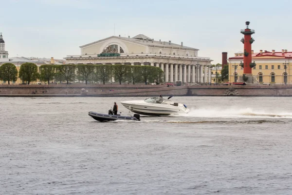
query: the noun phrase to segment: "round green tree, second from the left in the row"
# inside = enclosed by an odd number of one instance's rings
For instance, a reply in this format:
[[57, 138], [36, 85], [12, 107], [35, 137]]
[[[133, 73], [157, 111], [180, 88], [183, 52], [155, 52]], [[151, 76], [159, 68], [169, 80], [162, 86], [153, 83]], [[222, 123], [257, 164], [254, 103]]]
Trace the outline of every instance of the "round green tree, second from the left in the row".
[[30, 84], [31, 81], [37, 81], [39, 77], [40, 75], [37, 71], [36, 64], [30, 62], [21, 64], [19, 69], [19, 78], [22, 81], [27, 81], [28, 84]]

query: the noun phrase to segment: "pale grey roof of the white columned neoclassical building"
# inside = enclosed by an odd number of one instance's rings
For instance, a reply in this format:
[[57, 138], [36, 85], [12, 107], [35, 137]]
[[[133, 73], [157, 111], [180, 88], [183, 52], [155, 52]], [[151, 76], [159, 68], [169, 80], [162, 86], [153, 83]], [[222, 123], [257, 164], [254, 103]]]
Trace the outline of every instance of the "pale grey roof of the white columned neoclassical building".
[[[101, 39], [101, 40], [98, 40], [98, 41], [95, 41], [95, 42], [92, 42], [92, 43], [89, 43], [89, 44], [86, 44], [86, 45], [82, 45], [82, 46], [80, 46], [80, 48], [87, 47], [89, 45], [92, 45], [92, 44], [95, 44], [95, 43], [98, 43], [98, 42], [101, 42], [101, 41], [104, 41], [104, 40], [107, 40], [107, 39], [117, 38], [117, 39], [122, 39], [122, 40], [134, 42], [134, 43], [137, 43], [137, 44], [143, 44], [143, 45], [147, 45], [147, 46], [152, 46], [152, 47], [157, 47], [157, 46], [158, 47], [177, 47], [177, 48], [180, 48], [180, 49], [189, 49], [189, 50], [197, 50], [197, 51], [199, 50], [199, 49], [196, 49], [196, 48], [193, 48], [193, 47], [187, 47], [187, 46], [182, 46], [181, 44], [172, 43], [170, 41], [153, 40], [153, 39], [150, 39], [147, 36], [142, 35], [142, 34], [139, 34], [139, 35], [137, 35], [135, 37], [126, 38], [126, 37], [111, 36], [111, 37], [106, 38], [106, 39]], [[146, 39], [144, 39], [144, 38], [146, 38]], [[147, 42], [147, 39], [148, 39], [148, 42]]]

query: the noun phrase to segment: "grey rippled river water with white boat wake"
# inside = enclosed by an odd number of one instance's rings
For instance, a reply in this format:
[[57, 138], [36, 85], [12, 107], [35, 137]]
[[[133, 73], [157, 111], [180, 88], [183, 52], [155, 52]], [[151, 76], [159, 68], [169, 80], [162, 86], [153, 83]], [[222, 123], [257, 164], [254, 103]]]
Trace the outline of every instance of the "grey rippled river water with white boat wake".
[[0, 195], [291, 195], [292, 101], [173, 97], [190, 113], [97, 122], [122, 98], [0, 98]]

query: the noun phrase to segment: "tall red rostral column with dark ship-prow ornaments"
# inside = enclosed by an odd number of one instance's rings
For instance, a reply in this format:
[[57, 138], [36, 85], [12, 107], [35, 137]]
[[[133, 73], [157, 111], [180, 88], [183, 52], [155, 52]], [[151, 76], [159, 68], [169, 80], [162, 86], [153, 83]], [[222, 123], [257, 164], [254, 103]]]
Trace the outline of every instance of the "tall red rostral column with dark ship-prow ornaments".
[[252, 63], [252, 43], [255, 41], [255, 39], [252, 38], [252, 34], [255, 33], [255, 30], [249, 29], [249, 24], [250, 22], [246, 21], [246, 29], [240, 31], [240, 33], [244, 35], [244, 39], [241, 39], [241, 42], [244, 44], [243, 74], [252, 74], [252, 67], [255, 66], [255, 64]]

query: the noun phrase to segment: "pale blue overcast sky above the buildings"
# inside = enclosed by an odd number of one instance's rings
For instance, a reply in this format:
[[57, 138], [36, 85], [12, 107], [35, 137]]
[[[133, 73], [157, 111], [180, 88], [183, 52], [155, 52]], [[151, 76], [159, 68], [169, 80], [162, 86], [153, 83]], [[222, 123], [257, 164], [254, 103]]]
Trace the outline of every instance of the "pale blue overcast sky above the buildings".
[[216, 64], [243, 50], [245, 21], [255, 52], [292, 51], [292, 0], [0, 0], [0, 19], [10, 58], [62, 59], [99, 39], [144, 34], [183, 41]]

